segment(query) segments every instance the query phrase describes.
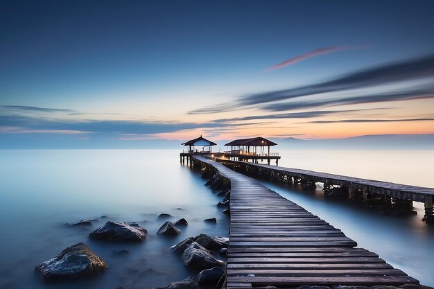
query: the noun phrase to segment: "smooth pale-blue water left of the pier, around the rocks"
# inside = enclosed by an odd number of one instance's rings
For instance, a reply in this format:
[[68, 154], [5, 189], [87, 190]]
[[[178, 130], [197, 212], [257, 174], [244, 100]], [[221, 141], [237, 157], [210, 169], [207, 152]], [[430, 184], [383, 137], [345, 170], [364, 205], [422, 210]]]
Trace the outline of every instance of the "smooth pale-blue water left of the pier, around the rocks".
[[[0, 150], [0, 288], [153, 288], [195, 276], [167, 248], [200, 233], [228, 236], [228, 218], [206, 180], [181, 166], [176, 150]], [[180, 208], [180, 209], [178, 209]], [[174, 238], [159, 236], [160, 213], [186, 218]], [[90, 228], [66, 222], [107, 216]], [[209, 225], [205, 218], [217, 218]], [[88, 238], [107, 220], [138, 222], [143, 243]], [[46, 283], [35, 265], [85, 242], [109, 266], [101, 277]], [[114, 249], [130, 254], [113, 256]], [[221, 259], [221, 258], [220, 258]]]

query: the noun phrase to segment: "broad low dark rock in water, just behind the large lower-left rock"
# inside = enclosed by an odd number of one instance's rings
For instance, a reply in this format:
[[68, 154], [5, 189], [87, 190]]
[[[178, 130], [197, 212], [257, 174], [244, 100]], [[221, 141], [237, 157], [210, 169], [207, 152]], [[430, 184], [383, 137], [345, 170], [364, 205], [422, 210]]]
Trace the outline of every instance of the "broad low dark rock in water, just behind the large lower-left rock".
[[92, 231], [89, 236], [103, 240], [140, 242], [146, 238], [146, 229], [140, 226], [131, 226], [124, 222], [108, 221], [103, 227]]

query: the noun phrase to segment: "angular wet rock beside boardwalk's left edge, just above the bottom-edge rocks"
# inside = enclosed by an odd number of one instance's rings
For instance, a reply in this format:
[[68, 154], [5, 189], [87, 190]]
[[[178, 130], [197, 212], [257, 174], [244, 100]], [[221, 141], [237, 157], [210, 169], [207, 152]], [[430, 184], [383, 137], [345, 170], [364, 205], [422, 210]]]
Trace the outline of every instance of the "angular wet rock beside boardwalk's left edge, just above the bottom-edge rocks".
[[191, 243], [182, 254], [182, 261], [187, 267], [198, 268], [200, 270], [211, 269], [214, 267], [222, 267], [225, 265], [223, 261], [216, 259], [209, 254], [207, 249], [196, 242]]

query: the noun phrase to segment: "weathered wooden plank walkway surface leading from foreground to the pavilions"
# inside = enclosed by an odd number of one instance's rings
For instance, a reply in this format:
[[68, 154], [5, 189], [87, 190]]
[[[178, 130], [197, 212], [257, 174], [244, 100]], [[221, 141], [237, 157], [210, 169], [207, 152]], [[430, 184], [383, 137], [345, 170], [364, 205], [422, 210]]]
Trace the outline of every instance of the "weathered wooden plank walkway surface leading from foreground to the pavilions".
[[257, 180], [193, 158], [231, 181], [228, 289], [419, 283]]

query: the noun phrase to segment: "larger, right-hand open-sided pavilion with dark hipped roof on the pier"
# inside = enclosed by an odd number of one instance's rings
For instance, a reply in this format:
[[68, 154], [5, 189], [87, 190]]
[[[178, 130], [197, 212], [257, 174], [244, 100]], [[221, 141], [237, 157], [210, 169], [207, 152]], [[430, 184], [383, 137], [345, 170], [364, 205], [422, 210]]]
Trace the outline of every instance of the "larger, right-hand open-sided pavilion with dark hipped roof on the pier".
[[[263, 137], [253, 137], [252, 139], [236, 139], [226, 143], [225, 146], [230, 146], [230, 152], [233, 154], [270, 156], [270, 146], [277, 146], [277, 143]], [[265, 148], [268, 148], [268, 152], [265, 152]]]

